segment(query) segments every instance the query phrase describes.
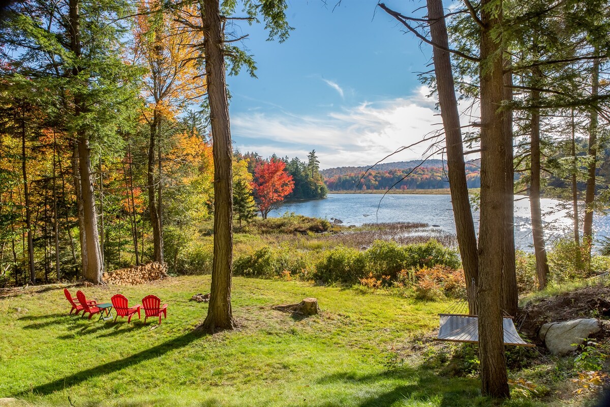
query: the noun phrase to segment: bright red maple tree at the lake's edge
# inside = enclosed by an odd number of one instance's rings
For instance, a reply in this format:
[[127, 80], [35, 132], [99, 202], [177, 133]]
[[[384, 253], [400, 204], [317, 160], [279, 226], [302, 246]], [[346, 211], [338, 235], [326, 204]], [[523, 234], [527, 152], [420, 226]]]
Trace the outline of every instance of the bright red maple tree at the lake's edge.
[[273, 158], [269, 162], [259, 162], [254, 168], [252, 187], [263, 219], [267, 219], [271, 209], [277, 207], [295, 187], [292, 175], [285, 168], [285, 162]]

